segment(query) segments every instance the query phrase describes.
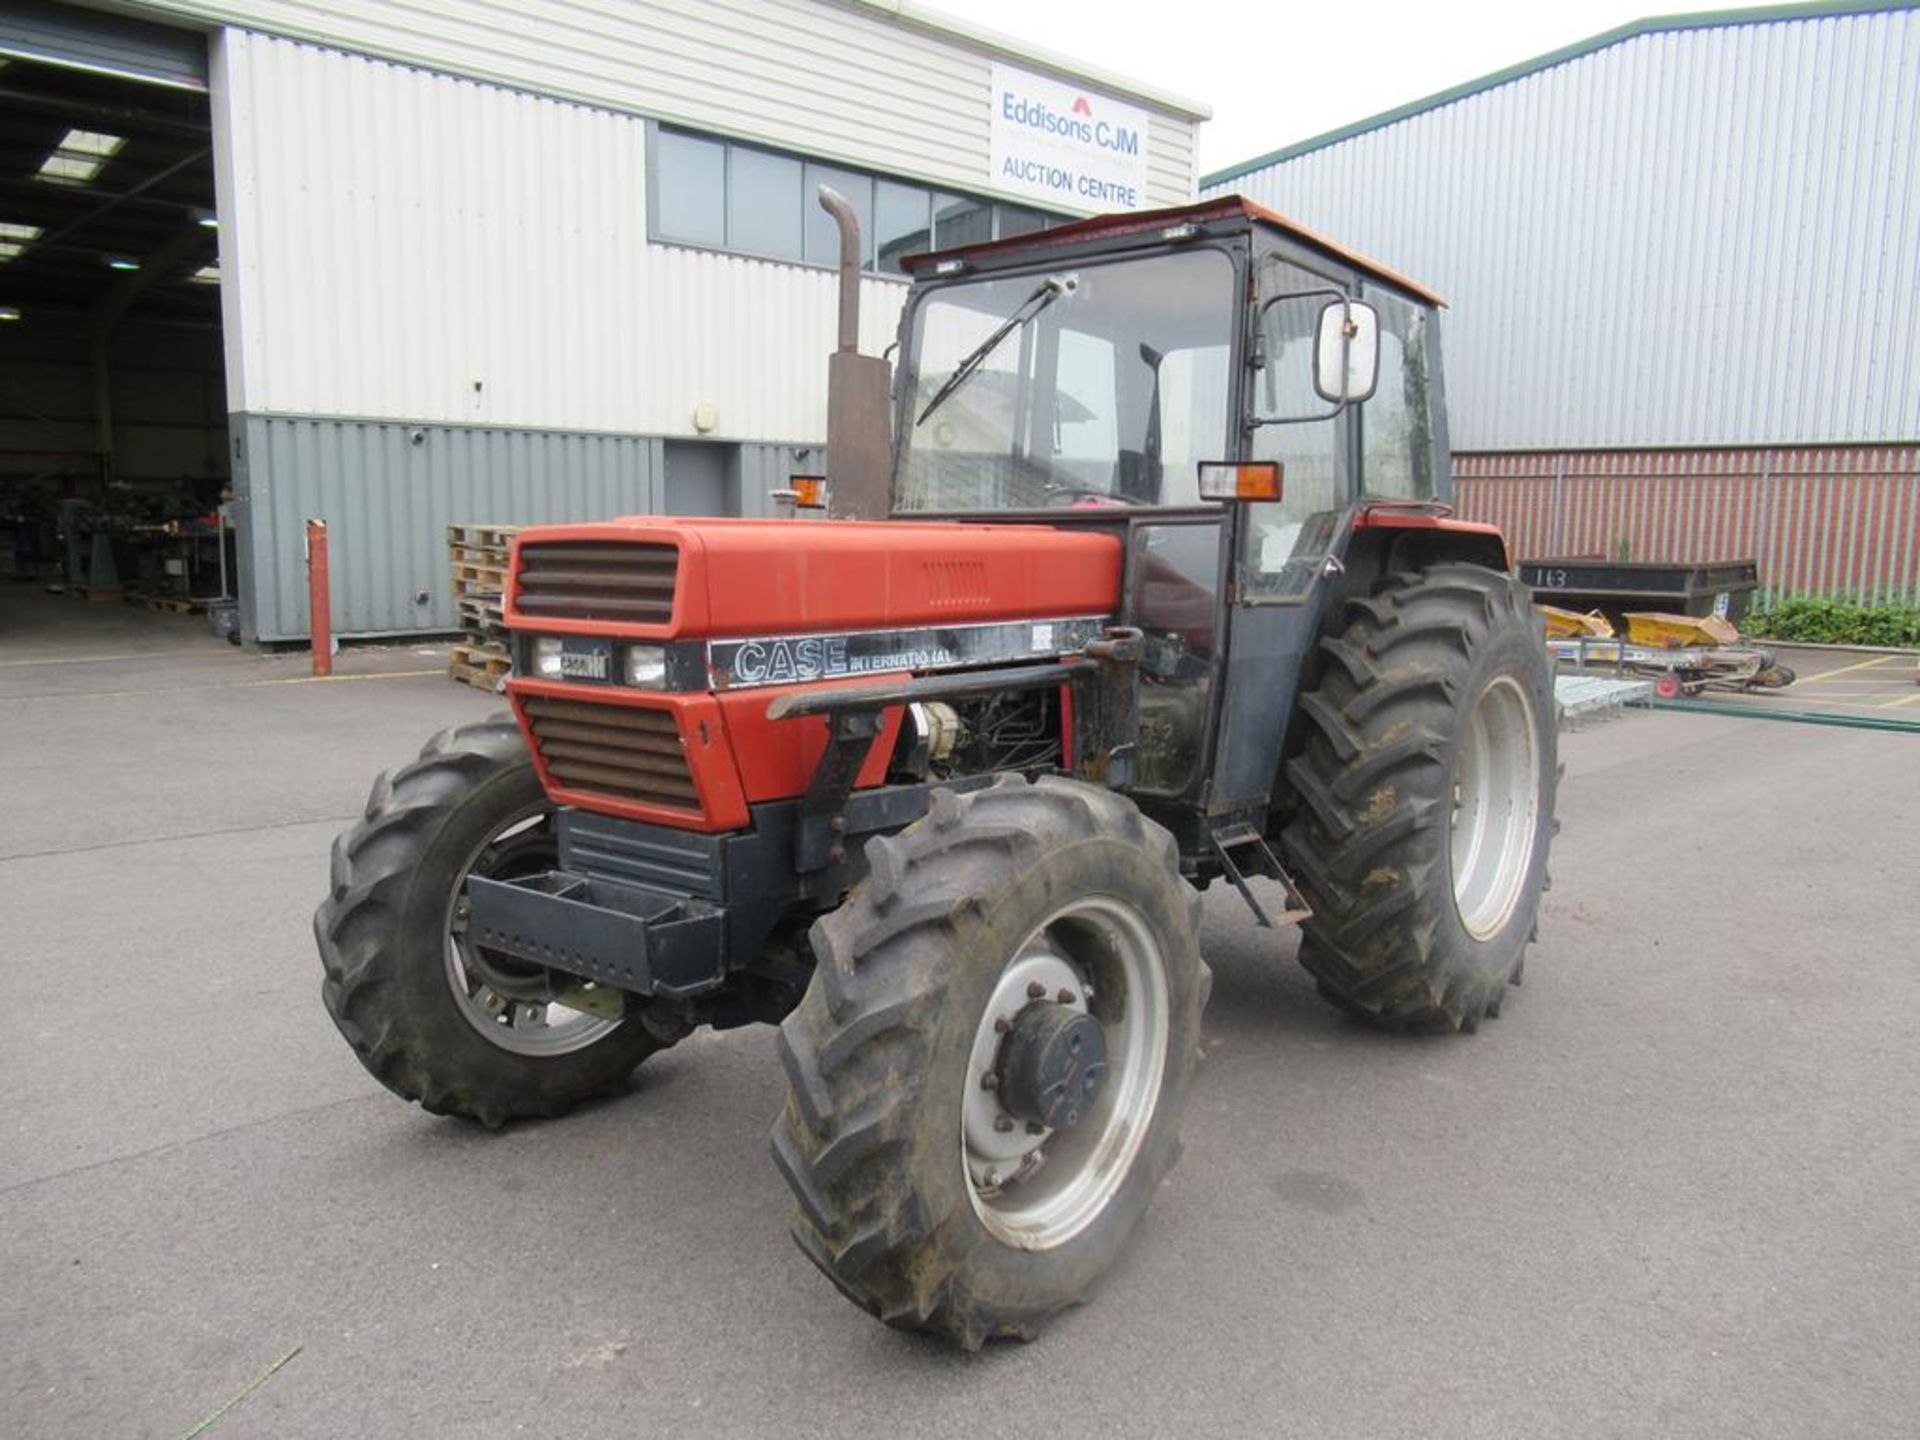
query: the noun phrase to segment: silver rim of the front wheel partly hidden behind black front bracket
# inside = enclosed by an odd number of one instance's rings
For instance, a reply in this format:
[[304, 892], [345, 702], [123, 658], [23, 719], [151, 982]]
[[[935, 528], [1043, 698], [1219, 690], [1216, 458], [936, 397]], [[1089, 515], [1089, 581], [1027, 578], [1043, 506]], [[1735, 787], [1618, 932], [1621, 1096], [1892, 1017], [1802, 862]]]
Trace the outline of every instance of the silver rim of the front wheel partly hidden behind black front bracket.
[[572, 1054], [603, 1041], [620, 1025], [618, 1020], [561, 1004], [551, 995], [549, 972], [488, 954], [468, 935], [470, 876], [515, 879], [551, 870], [555, 858], [553, 812], [536, 804], [511, 816], [474, 847], [455, 876], [447, 900], [447, 989], [467, 1023], [513, 1054]]

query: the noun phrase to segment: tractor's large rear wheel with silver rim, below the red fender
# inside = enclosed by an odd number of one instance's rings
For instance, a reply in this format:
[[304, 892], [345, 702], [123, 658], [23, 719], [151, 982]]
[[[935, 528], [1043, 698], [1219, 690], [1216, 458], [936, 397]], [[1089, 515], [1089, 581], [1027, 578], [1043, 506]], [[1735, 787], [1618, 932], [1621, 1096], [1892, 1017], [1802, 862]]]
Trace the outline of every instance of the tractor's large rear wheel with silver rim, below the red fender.
[[1390, 1029], [1475, 1029], [1517, 985], [1548, 883], [1553, 674], [1526, 588], [1476, 564], [1388, 580], [1321, 645], [1283, 851], [1300, 964]]

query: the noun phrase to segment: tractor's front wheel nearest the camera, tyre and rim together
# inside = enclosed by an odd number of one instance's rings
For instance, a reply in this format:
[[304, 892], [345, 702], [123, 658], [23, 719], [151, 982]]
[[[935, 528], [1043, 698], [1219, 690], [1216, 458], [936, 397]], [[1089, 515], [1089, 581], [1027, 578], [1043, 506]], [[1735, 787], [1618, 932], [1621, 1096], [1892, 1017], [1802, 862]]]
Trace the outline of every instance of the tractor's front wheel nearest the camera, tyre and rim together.
[[[1087, 1298], [1177, 1156], [1198, 895], [1171, 835], [1058, 778], [941, 791], [868, 862], [781, 1025], [795, 1240], [889, 1325], [1031, 1338]], [[1073, 1083], [1043, 1102], [1021, 1056], [1046, 1044]], [[1104, 1066], [1085, 1106], [1069, 1050]]]

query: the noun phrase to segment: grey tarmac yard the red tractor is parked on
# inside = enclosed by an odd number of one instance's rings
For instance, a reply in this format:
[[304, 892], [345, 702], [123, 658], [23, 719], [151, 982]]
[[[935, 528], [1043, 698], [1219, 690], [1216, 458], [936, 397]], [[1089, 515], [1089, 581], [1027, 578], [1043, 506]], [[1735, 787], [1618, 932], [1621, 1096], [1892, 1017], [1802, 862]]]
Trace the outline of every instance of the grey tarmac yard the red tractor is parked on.
[[1907, 735], [1571, 733], [1542, 939], [1476, 1037], [1338, 1020], [1290, 935], [1210, 897], [1187, 1158], [1091, 1308], [960, 1356], [787, 1240], [770, 1031], [499, 1135], [403, 1106], [334, 1035], [307, 933], [326, 847], [376, 768], [492, 701], [405, 674], [436, 668], [411, 651], [303, 684], [167, 616], [44, 645], [21, 605], [0, 593], [0, 1430], [171, 1440], [242, 1394], [207, 1434], [1920, 1415]]

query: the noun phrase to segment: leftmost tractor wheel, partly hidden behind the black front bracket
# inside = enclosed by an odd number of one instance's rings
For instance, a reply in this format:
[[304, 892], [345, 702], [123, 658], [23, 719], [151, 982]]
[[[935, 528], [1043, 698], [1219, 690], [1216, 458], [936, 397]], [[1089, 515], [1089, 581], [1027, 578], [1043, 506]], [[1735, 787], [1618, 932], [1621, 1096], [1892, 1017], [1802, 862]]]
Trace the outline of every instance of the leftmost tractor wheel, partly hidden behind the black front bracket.
[[559, 1116], [666, 1046], [632, 1008], [597, 1020], [543, 1000], [543, 972], [461, 933], [468, 874], [551, 868], [551, 812], [518, 726], [495, 716], [380, 776], [334, 841], [313, 916], [326, 1012], [374, 1079], [436, 1116]]

